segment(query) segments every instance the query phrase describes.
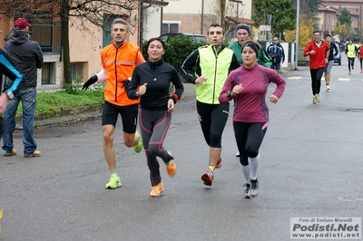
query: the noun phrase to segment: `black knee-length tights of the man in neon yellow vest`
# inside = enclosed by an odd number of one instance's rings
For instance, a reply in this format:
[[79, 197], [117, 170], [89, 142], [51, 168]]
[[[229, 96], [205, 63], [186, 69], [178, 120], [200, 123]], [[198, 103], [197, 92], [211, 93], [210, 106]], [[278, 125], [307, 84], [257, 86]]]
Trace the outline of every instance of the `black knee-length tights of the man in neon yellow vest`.
[[197, 111], [204, 140], [211, 148], [221, 148], [221, 134], [228, 120], [230, 103], [206, 104], [197, 101]]

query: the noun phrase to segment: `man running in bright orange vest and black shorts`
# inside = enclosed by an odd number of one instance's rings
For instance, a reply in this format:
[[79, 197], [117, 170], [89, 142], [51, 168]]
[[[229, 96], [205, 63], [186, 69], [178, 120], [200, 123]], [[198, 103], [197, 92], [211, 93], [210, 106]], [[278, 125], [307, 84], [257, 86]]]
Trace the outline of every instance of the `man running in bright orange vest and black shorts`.
[[113, 149], [114, 129], [120, 114], [123, 120], [123, 142], [139, 153], [142, 150], [142, 140], [136, 130], [137, 114], [140, 100], [130, 100], [127, 97], [129, 79], [135, 66], [144, 63], [140, 48], [128, 43], [130, 26], [121, 18], [113, 20], [111, 35], [113, 41], [105, 46], [101, 52], [102, 70], [93, 75], [83, 84], [83, 90], [94, 82], [107, 81], [104, 88], [103, 105], [103, 153], [107, 160], [111, 177], [106, 188], [121, 187], [121, 179], [116, 172], [115, 152]]

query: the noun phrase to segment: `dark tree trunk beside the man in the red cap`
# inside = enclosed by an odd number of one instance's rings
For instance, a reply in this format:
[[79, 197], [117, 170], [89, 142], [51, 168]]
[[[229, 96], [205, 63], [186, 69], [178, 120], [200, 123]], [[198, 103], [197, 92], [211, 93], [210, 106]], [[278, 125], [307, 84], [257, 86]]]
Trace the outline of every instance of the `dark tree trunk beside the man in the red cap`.
[[62, 48], [64, 63], [64, 88], [66, 92], [73, 92], [71, 57], [69, 54], [69, 1], [62, 0], [61, 23], [62, 23]]

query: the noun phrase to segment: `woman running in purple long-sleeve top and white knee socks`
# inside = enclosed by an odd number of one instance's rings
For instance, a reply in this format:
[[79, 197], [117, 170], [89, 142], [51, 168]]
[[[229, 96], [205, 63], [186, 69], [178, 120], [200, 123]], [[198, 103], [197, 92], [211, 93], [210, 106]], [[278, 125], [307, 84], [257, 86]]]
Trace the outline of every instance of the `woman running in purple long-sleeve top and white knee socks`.
[[260, 45], [247, 41], [242, 46], [243, 63], [232, 71], [224, 83], [220, 102], [234, 99], [233, 129], [240, 151], [240, 168], [247, 183], [243, 198], [253, 198], [259, 194], [257, 169], [260, 162], [260, 144], [269, 123], [269, 108], [266, 94], [269, 83], [277, 84], [270, 101], [277, 103], [285, 90], [286, 82], [279, 73], [257, 63]]

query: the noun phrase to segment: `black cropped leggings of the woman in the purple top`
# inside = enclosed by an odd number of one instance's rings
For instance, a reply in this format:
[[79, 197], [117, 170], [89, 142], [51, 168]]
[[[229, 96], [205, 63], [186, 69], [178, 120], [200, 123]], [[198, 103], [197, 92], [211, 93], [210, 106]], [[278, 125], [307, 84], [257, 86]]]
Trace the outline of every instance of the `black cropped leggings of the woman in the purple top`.
[[233, 121], [234, 136], [240, 151], [240, 164], [249, 165], [249, 158], [259, 155], [260, 145], [267, 131], [267, 123]]

